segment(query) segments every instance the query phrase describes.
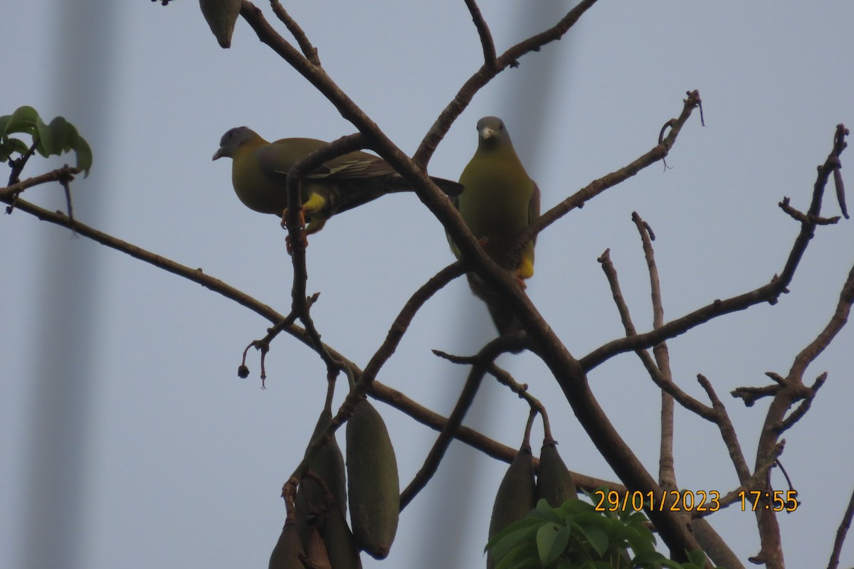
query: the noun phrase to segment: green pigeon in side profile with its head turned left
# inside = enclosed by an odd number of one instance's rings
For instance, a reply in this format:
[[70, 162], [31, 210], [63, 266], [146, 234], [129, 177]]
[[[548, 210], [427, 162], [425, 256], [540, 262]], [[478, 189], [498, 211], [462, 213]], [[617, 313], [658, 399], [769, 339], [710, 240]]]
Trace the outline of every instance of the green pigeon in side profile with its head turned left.
[[[313, 138], [266, 142], [246, 126], [238, 126], [222, 136], [213, 160], [231, 157], [231, 183], [244, 206], [284, 216], [288, 207], [285, 181], [290, 167], [325, 144]], [[451, 180], [430, 179], [447, 195], [459, 195], [463, 188]], [[412, 191], [412, 186], [374, 154], [351, 152], [329, 160], [302, 179], [302, 214], [308, 223], [304, 235], [323, 229], [336, 213], [384, 194], [405, 191]]]

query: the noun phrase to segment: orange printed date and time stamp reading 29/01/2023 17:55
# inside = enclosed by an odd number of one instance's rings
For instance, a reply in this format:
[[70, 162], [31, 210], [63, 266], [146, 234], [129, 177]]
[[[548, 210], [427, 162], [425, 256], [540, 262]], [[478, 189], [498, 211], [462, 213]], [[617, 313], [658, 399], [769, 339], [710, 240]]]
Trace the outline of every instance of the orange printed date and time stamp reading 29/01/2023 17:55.
[[[717, 512], [722, 508], [721, 493], [711, 491], [664, 491], [655, 492], [597, 490], [593, 493], [594, 509], [597, 512], [617, 512], [648, 508], [659, 512]], [[798, 508], [798, 492], [790, 491], [740, 491], [741, 511], [755, 512], [757, 509], [775, 512], [793, 512]], [[737, 502], [737, 501], [736, 501]]]

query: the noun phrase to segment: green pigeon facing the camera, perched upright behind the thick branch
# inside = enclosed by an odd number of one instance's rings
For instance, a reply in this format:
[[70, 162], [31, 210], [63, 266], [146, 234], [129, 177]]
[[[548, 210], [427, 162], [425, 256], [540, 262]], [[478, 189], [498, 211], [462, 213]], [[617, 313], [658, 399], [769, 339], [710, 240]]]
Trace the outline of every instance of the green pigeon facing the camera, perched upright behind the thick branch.
[[[477, 152], [465, 166], [459, 183], [465, 188], [455, 200], [459, 214], [489, 257], [505, 266], [519, 234], [540, 217], [540, 189], [525, 171], [498, 117], [477, 121]], [[511, 269], [523, 288], [524, 279], [534, 275], [535, 241], [525, 245], [518, 264]], [[453, 241], [451, 249], [459, 257]], [[494, 291], [476, 275], [470, 273], [468, 278], [472, 292], [486, 302], [499, 333], [518, 328], [516, 317]]]

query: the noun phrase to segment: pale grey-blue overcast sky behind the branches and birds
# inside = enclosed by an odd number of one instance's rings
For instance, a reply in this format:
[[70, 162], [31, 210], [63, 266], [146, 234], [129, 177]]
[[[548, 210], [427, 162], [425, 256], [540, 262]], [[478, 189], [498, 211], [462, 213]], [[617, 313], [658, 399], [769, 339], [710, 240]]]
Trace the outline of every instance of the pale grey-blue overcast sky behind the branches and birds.
[[[408, 153], [482, 63], [462, 2], [294, 4], [287, 8], [326, 72]], [[483, 4], [499, 52], [565, 10]], [[272, 20], [268, 5], [259, 6]], [[484, 88], [430, 162], [431, 174], [459, 177], [477, 144], [477, 119], [497, 114], [544, 207], [553, 206], [652, 148], [661, 125], [681, 112], [685, 91], [699, 90], [706, 126], [697, 113], [688, 121], [668, 158], [672, 170], [654, 165], [540, 236], [529, 295], [576, 357], [623, 335], [596, 262], [606, 248], [635, 324], [651, 326], [633, 211], [658, 238], [668, 318], [782, 270], [799, 226], [777, 203], [791, 196], [806, 208], [835, 125], [854, 125], [854, 4], [771, 6], [601, 0], [564, 39]], [[223, 50], [194, 0], [167, 7], [28, 0], [0, 21], [0, 42], [0, 114], [24, 104], [45, 119], [61, 114], [91, 144], [91, 176], [73, 183], [81, 222], [288, 311], [284, 232], [272, 216], [239, 203], [230, 161], [212, 163], [211, 155], [237, 125], [268, 139], [330, 140], [354, 128], [243, 20]], [[37, 157], [24, 176], [63, 161]], [[64, 204], [58, 186], [23, 197]], [[823, 213], [839, 213], [833, 199]], [[0, 218], [0, 243], [0, 566], [266, 566], [284, 521], [278, 493], [323, 404], [319, 358], [279, 337], [261, 391], [256, 353], [249, 379], [236, 374], [245, 346], [269, 325], [254, 313], [23, 212]], [[415, 288], [453, 260], [441, 224], [414, 195], [333, 218], [307, 254], [308, 290], [322, 293], [314, 321], [329, 345], [360, 365]], [[696, 374], [711, 380], [751, 464], [768, 401], [746, 409], [728, 392], [767, 385], [766, 371], [787, 374], [833, 314], [852, 263], [851, 223], [822, 228], [777, 305], [670, 341], [675, 380], [704, 401]], [[378, 379], [447, 415], [466, 370], [430, 349], [470, 354], [493, 335], [460, 279], [430, 300]], [[827, 371], [827, 384], [786, 433], [782, 460], [801, 500], [779, 518], [791, 567], [827, 564], [854, 485], [852, 346], [846, 328], [810, 367], [805, 380]], [[529, 355], [500, 363], [546, 402], [570, 468], [614, 479], [546, 367]], [[656, 475], [659, 393], [637, 357], [616, 357], [589, 380]], [[436, 433], [377, 408], [406, 485]], [[516, 396], [487, 385], [466, 423], [518, 446], [527, 413]], [[716, 427], [678, 409], [676, 429], [681, 488], [725, 493], [738, 485]], [[539, 426], [534, 438], [538, 449]], [[505, 468], [454, 443], [401, 515], [389, 560], [365, 557], [365, 566], [482, 564]], [[779, 472], [774, 484], [785, 488]], [[757, 553], [751, 513], [729, 508], [711, 522], [745, 563]], [[851, 541], [842, 566], [854, 564]]]

